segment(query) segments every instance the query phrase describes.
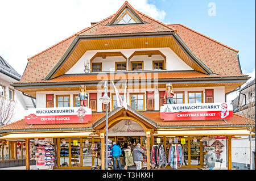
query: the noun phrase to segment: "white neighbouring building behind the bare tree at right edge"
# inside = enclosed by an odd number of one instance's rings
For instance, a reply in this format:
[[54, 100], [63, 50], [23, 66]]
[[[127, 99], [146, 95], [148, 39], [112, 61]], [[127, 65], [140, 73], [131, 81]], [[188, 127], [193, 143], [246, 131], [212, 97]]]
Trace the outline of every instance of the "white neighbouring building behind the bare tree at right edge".
[[[244, 87], [242, 87], [236, 99], [232, 101], [233, 112], [239, 115], [243, 115], [242, 110], [244, 112], [248, 111], [248, 107], [253, 106], [251, 108], [251, 112], [254, 114], [255, 120], [255, 79], [246, 83]], [[254, 104], [250, 104], [250, 102], [254, 102]], [[232, 140], [232, 167], [237, 169], [250, 169], [250, 138], [248, 136], [241, 136], [241, 138]], [[255, 136], [251, 139], [251, 151], [252, 151], [252, 159], [253, 159], [253, 169], [255, 169]]]

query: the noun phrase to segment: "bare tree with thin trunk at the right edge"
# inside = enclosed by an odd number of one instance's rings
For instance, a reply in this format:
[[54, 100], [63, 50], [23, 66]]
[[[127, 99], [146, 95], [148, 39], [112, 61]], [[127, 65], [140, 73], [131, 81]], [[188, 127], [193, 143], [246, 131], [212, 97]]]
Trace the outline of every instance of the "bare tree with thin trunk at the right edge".
[[[249, 93], [249, 94], [248, 94]], [[245, 117], [245, 125], [247, 130], [250, 132], [250, 170], [253, 169], [253, 159], [251, 150], [251, 133], [255, 129], [255, 83], [248, 87], [243, 93], [244, 104], [238, 102], [240, 115]]]

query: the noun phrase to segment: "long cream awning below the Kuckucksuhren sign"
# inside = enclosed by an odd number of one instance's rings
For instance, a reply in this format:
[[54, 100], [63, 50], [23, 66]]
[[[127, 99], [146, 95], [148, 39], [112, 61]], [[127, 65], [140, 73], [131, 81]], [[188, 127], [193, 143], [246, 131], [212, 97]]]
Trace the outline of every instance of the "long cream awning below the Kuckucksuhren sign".
[[13, 133], [0, 137], [0, 140], [18, 139], [18, 138], [72, 138], [86, 137], [93, 132], [61, 132], [61, 133]]

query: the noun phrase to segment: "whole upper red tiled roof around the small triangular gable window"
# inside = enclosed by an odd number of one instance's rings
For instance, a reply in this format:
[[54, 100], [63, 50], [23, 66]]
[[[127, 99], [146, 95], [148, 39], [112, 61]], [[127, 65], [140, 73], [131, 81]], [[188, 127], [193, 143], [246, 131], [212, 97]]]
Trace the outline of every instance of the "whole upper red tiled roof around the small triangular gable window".
[[[123, 6], [130, 4], [125, 2]], [[122, 6], [122, 7], [123, 7]], [[121, 10], [122, 7], [119, 9]], [[130, 6], [131, 7], [131, 6]], [[131, 7], [133, 9], [133, 7]], [[134, 10], [134, 9], [133, 9]], [[222, 76], [241, 76], [240, 66], [237, 58], [237, 50], [227, 47], [216, 40], [210, 39], [196, 31], [191, 30], [181, 24], [164, 24], [155, 20], [142, 12], [134, 10], [147, 22], [146, 24], [135, 24], [131, 26], [106, 26], [117, 14], [115, 13], [100, 22], [93, 24], [75, 35], [60, 41], [52, 47], [28, 58], [29, 62], [20, 82], [37, 82], [46, 77], [49, 71], [59, 62], [63, 54], [76, 36], [79, 35], [105, 35], [121, 33], [139, 32], [166, 32], [177, 31], [189, 49], [215, 74]]]

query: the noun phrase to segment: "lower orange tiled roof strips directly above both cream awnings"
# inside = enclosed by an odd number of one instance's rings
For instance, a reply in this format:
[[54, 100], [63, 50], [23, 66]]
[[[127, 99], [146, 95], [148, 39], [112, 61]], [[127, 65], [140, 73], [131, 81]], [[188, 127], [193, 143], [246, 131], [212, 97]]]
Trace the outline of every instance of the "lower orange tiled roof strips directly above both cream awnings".
[[[142, 112], [142, 114], [151, 120], [155, 121], [160, 127], [170, 126], [170, 127], [178, 127], [178, 126], [214, 126], [214, 125], [245, 125], [245, 118], [243, 116], [233, 114], [233, 117], [226, 120], [225, 123], [223, 120], [192, 120], [192, 121], [163, 121], [160, 119], [160, 112]], [[89, 123], [81, 123], [81, 124], [34, 124], [31, 127], [30, 124], [27, 124], [24, 119], [16, 121], [14, 123], [5, 125], [0, 128], [0, 132], [10, 129], [26, 129], [29, 131], [30, 129], [59, 129], [59, 128], [90, 128], [92, 124], [97, 120], [101, 119], [105, 116], [105, 113], [92, 113], [92, 120]]]

